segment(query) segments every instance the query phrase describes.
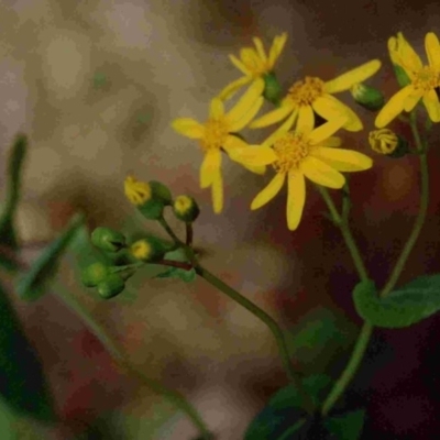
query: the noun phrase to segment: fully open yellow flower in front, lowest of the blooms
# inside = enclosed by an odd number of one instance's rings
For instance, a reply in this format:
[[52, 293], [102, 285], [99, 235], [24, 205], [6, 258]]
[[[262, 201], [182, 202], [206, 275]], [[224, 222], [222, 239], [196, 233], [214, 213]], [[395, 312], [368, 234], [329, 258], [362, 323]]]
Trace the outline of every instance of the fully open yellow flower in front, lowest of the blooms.
[[364, 154], [337, 148], [341, 144], [332, 134], [344, 125], [345, 119], [333, 119], [318, 129], [292, 131], [292, 114], [260, 146], [238, 150], [233, 154], [251, 165], [272, 164], [276, 175], [254, 198], [251, 209], [258, 209], [272, 200], [287, 179], [287, 226], [295, 230], [301, 219], [306, 200], [306, 177], [315, 184], [341, 188], [345, 178], [340, 172], [360, 172], [372, 166]]

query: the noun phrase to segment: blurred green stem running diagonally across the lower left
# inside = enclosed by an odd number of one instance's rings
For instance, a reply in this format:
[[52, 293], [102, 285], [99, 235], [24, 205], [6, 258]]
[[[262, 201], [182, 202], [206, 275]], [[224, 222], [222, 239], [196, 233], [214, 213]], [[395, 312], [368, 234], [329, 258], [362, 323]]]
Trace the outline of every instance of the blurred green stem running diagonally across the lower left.
[[[63, 289], [57, 290], [63, 292]], [[124, 370], [131, 376], [136, 377], [139, 382], [146, 385], [153, 392], [163, 395], [165, 398], [172, 402], [177, 408], [188, 416], [193, 424], [199, 429], [200, 435], [204, 436], [204, 438], [210, 438], [211, 432], [209, 431], [205, 421], [201, 419], [197, 409], [185, 398], [183, 394], [175, 389], [167, 388], [166, 386], [145, 376], [142, 372], [134, 369], [127, 360], [127, 354], [118, 349], [107, 331], [95, 321], [89, 312], [86, 311], [79, 301], [72, 295], [63, 295], [58, 296], [58, 298], [62, 298], [63, 301], [81, 318], [82, 322], [99, 339], [99, 341], [108, 350], [122, 370]]]

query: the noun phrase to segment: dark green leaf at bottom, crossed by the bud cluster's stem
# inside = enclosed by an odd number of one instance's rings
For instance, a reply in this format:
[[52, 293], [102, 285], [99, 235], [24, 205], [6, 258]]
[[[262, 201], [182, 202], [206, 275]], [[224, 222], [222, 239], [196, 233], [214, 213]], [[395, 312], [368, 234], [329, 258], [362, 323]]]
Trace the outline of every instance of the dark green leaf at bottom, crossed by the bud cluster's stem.
[[[304, 387], [319, 405], [331, 384], [326, 375], [314, 375], [302, 380]], [[292, 384], [279, 389], [266, 407], [248, 427], [244, 440], [292, 440], [309, 428], [308, 419], [300, 407], [301, 398]], [[292, 436], [295, 437], [292, 437]]]

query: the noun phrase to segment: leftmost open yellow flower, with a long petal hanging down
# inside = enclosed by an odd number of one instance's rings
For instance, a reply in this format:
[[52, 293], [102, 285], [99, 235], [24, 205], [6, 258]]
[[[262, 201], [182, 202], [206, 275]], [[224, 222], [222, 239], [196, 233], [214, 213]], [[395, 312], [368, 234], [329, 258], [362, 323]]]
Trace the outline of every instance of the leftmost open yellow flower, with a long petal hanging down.
[[[226, 151], [230, 155], [235, 148], [249, 147], [244, 141], [232, 133], [242, 130], [255, 117], [263, 105], [261, 97], [263, 88], [264, 80], [255, 80], [228, 113], [224, 112], [223, 102], [219, 98], [212, 99], [209, 119], [205, 123], [190, 118], [173, 121], [174, 130], [184, 136], [199, 141], [205, 154], [200, 167], [200, 187], [211, 187], [215, 212], [220, 212], [223, 207], [221, 152]], [[246, 166], [246, 168], [254, 173], [264, 173], [263, 166]]]

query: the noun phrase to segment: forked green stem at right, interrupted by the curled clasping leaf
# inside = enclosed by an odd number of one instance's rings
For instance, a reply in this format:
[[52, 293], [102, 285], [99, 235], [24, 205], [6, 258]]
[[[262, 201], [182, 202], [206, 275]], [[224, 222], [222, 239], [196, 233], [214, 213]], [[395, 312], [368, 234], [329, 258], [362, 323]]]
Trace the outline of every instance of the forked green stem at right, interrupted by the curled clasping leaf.
[[[414, 118], [411, 119], [410, 124], [411, 124], [413, 133], [415, 133], [414, 138], [416, 141], [417, 150], [422, 151], [420, 135], [418, 133], [416, 121]], [[405, 267], [408, 256], [409, 256], [410, 252], [413, 251], [414, 245], [416, 244], [416, 241], [419, 237], [419, 233], [421, 231], [421, 228], [422, 228], [425, 219], [426, 219], [426, 215], [427, 215], [427, 210], [428, 210], [428, 201], [429, 201], [428, 161], [427, 161], [427, 155], [425, 152], [422, 152], [419, 157], [420, 157], [420, 182], [421, 182], [420, 183], [419, 212], [418, 212], [416, 221], [414, 223], [411, 233], [409, 234], [409, 238], [408, 238], [407, 242], [405, 243], [404, 249], [402, 250], [402, 253], [400, 253], [400, 255], [396, 262], [396, 265], [389, 276], [389, 279], [386, 283], [386, 285], [384, 286], [384, 288], [382, 289], [382, 293], [380, 294], [381, 297], [388, 295], [394, 289], [397, 280], [402, 274], [402, 271]], [[328, 196], [328, 194], [327, 194], [327, 196]], [[328, 199], [332, 204], [332, 200], [330, 199], [330, 197], [328, 197]], [[326, 197], [324, 197], [324, 200], [327, 201]], [[334, 208], [334, 205], [333, 205], [333, 208]], [[330, 209], [330, 207], [329, 207], [329, 209]], [[331, 209], [330, 209], [330, 212], [332, 212]], [[358, 268], [361, 279], [362, 280], [369, 279], [366, 271], [360, 271], [363, 267], [363, 263], [362, 263], [362, 265], [360, 265], [360, 262], [362, 262], [362, 257], [360, 256], [359, 252], [353, 253], [353, 249], [356, 250], [358, 248], [356, 248], [354, 241], [352, 240], [352, 235], [350, 233], [350, 229], [349, 229], [346, 222], [340, 223], [340, 228], [341, 228], [342, 235], [344, 237], [345, 243], [346, 243], [348, 248], [350, 249], [350, 252], [356, 264], [356, 268]], [[346, 229], [345, 232], [344, 232], [343, 228]], [[358, 261], [358, 263], [356, 263], [356, 261]], [[334, 384], [333, 388], [331, 389], [330, 394], [328, 395], [327, 399], [324, 400], [324, 403], [322, 405], [322, 408], [321, 408], [322, 416], [326, 416], [331, 410], [331, 408], [334, 406], [334, 404], [338, 402], [338, 399], [343, 395], [343, 393], [345, 392], [350, 382], [356, 374], [358, 369], [359, 369], [359, 366], [363, 360], [363, 356], [365, 354], [365, 351], [369, 345], [372, 333], [373, 333], [373, 326], [369, 322], [364, 322], [364, 324], [362, 326], [361, 332], [358, 337], [358, 340], [354, 345], [353, 353], [350, 358], [349, 363], [346, 364], [344, 371], [342, 372], [341, 376]]]

